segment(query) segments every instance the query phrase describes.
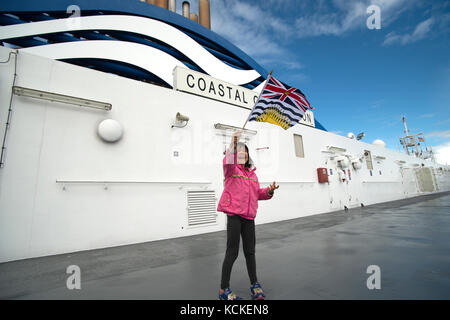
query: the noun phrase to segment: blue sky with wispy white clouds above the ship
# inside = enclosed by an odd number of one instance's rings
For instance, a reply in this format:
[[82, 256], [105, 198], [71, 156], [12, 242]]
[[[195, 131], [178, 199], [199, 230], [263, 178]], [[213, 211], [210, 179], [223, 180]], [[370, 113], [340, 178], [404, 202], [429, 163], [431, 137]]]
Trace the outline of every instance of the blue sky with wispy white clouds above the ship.
[[406, 117], [450, 165], [450, 0], [211, 0], [211, 26], [301, 89], [328, 131], [398, 150]]

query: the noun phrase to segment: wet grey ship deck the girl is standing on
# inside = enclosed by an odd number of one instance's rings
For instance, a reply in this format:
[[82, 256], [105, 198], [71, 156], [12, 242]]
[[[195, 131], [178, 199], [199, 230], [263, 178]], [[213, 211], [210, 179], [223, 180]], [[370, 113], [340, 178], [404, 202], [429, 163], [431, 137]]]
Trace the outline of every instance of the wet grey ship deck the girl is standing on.
[[[258, 225], [256, 238], [268, 299], [450, 299], [448, 192]], [[220, 231], [3, 263], [0, 299], [217, 299], [225, 243]], [[69, 265], [81, 290], [66, 287]], [[231, 288], [249, 297], [242, 244]]]

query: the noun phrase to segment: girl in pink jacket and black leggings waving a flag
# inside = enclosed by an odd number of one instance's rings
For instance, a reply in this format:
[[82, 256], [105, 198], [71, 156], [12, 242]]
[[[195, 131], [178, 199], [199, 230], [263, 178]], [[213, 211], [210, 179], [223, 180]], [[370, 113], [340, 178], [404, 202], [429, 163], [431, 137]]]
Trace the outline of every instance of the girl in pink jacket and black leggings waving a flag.
[[247, 271], [250, 277], [250, 291], [253, 299], [265, 298], [256, 278], [255, 262], [255, 217], [258, 200], [268, 200], [279, 188], [275, 181], [268, 188], [259, 187], [253, 163], [247, 146], [239, 142], [241, 132], [233, 134], [229, 149], [223, 159], [225, 189], [217, 211], [227, 214], [227, 251], [222, 265], [222, 280], [219, 290], [220, 300], [241, 300], [230, 289], [230, 275], [233, 263], [239, 254], [239, 240], [242, 236]]

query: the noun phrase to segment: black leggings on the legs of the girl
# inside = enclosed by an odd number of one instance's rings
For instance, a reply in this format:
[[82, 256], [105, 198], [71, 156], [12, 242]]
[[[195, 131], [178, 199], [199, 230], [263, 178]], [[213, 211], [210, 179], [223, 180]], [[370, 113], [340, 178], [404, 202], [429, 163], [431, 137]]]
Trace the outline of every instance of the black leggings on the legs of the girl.
[[239, 240], [242, 236], [242, 246], [244, 248], [245, 261], [250, 283], [253, 285], [256, 279], [255, 260], [255, 221], [247, 220], [240, 216], [228, 216], [227, 224], [227, 252], [222, 265], [222, 281], [220, 287], [226, 289], [230, 287], [230, 276], [233, 263], [239, 255]]

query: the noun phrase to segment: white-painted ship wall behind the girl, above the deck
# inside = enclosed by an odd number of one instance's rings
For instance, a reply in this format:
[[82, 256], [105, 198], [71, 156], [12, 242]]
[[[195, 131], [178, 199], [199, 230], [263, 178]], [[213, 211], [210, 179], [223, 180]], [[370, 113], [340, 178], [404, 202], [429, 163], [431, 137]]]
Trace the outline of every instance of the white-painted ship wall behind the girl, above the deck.
[[[0, 47], [0, 60], [11, 51]], [[108, 102], [112, 110], [14, 95], [6, 130], [14, 63], [0, 68], [0, 262], [226, 228], [222, 213], [203, 212], [201, 220], [188, 194], [220, 197], [229, 137], [214, 124], [240, 127], [247, 109], [20, 53], [16, 86]], [[172, 128], [177, 112], [190, 118], [186, 127]], [[118, 142], [99, 137], [105, 119], [122, 125]], [[448, 167], [431, 161], [305, 125], [247, 128], [257, 131], [248, 143], [261, 185], [280, 184], [273, 200], [260, 202], [257, 224], [450, 190]], [[304, 158], [296, 156], [294, 134], [303, 138]], [[346, 169], [344, 182], [336, 161], [342, 155], [363, 159], [359, 170]], [[317, 168], [332, 170], [329, 183], [318, 182]]]

